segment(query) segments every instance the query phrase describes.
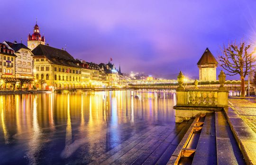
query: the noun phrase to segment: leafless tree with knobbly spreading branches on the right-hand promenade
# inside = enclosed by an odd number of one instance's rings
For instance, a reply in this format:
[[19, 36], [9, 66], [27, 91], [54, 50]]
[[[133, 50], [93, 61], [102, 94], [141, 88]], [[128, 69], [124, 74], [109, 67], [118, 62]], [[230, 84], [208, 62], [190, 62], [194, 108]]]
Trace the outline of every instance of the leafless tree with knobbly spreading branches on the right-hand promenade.
[[228, 47], [223, 46], [222, 55], [219, 56], [219, 65], [228, 71], [228, 75], [240, 75], [242, 97], [245, 97], [245, 77], [256, 67], [253, 51], [248, 52], [250, 48], [251, 45], [247, 45], [245, 41], [239, 44], [229, 43]]

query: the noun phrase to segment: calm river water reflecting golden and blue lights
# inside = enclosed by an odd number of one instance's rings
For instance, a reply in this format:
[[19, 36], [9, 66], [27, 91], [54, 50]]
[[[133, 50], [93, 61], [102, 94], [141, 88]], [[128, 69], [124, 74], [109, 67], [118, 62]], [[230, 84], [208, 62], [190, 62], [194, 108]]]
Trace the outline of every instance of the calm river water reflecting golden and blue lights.
[[0, 95], [0, 164], [88, 164], [156, 125], [174, 126], [170, 91]]

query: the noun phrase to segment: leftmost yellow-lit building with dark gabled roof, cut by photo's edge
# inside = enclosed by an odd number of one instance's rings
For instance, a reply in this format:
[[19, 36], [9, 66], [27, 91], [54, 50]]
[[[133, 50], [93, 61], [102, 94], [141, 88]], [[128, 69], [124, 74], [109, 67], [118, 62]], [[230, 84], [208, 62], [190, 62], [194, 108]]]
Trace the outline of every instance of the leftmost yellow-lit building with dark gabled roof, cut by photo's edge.
[[0, 43], [0, 77], [15, 77], [14, 50]]

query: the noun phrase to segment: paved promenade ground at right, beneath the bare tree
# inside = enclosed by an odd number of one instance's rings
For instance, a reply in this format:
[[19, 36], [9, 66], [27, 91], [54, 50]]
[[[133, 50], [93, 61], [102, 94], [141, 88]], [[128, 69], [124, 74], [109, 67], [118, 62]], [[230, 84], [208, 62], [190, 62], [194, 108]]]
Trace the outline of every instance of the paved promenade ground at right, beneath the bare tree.
[[256, 133], [256, 101], [254, 99], [229, 99], [229, 107], [232, 107]]

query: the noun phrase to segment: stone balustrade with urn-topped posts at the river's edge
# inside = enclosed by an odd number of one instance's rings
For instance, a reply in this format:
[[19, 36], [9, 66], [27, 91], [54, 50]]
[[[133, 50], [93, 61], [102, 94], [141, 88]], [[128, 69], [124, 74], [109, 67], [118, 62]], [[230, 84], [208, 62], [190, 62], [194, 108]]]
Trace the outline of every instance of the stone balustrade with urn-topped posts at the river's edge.
[[199, 89], [195, 81], [194, 89], [185, 89], [183, 74], [178, 75], [179, 87], [176, 91], [177, 104], [175, 109], [175, 122], [181, 123], [189, 120], [198, 113], [211, 113], [228, 107], [229, 91], [224, 87], [226, 75], [223, 71], [219, 74], [219, 89]]

